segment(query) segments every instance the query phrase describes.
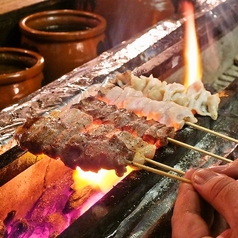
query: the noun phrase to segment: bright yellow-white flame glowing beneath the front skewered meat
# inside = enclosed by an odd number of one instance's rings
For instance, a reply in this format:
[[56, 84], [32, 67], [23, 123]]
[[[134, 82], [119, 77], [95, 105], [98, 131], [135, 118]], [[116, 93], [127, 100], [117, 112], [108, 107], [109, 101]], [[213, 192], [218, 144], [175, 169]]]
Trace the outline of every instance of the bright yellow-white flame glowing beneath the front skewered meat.
[[87, 199], [80, 208], [80, 213], [83, 214], [99, 199], [101, 199], [109, 190], [127, 176], [133, 169], [127, 166], [127, 172], [123, 177], [118, 177], [114, 170], [100, 169], [97, 173], [91, 171], [83, 171], [79, 167], [73, 173], [74, 190], [82, 190], [90, 185], [96, 190], [95, 194]]

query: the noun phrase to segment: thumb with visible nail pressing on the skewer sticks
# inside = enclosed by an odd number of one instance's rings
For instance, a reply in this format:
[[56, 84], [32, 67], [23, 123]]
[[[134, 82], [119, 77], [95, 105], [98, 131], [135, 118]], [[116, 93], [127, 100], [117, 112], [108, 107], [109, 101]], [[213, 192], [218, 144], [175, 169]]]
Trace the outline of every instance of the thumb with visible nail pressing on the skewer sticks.
[[191, 178], [197, 192], [210, 203], [228, 222], [238, 223], [238, 181], [209, 169], [199, 169]]

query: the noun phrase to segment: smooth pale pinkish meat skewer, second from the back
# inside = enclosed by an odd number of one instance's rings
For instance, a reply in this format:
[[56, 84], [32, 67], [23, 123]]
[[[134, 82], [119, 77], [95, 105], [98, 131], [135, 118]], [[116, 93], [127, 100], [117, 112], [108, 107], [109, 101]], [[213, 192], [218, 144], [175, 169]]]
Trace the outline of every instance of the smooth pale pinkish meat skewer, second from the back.
[[174, 102], [156, 101], [147, 98], [141, 91], [118, 86], [102, 88], [98, 98], [109, 105], [125, 108], [138, 116], [146, 116], [148, 120], [155, 120], [167, 127], [181, 129], [186, 121], [196, 123], [197, 119], [187, 107], [180, 106]]

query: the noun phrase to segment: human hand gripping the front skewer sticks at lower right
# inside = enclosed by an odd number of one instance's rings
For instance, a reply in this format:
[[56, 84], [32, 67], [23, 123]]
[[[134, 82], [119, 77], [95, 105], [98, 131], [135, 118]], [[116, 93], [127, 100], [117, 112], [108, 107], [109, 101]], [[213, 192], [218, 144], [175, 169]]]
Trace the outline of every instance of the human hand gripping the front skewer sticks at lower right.
[[181, 183], [172, 217], [172, 237], [238, 237], [238, 160], [190, 170]]

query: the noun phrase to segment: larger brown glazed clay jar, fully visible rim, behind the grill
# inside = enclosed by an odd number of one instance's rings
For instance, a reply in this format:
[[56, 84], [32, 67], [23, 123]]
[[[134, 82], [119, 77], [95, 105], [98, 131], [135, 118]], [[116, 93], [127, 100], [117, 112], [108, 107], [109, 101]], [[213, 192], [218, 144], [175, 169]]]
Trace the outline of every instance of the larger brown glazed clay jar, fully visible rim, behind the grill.
[[45, 59], [47, 84], [97, 57], [105, 50], [106, 20], [78, 10], [34, 13], [20, 21], [22, 47]]

